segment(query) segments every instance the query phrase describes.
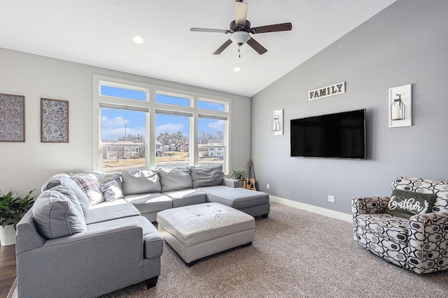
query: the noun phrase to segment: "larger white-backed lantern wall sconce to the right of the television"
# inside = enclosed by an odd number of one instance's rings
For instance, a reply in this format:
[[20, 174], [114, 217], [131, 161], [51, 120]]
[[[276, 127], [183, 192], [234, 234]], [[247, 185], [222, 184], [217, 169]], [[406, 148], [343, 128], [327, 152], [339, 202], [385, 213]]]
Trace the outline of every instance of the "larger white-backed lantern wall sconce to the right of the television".
[[412, 126], [411, 84], [389, 89], [389, 127]]

